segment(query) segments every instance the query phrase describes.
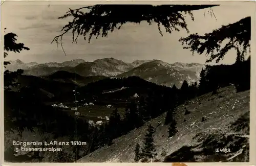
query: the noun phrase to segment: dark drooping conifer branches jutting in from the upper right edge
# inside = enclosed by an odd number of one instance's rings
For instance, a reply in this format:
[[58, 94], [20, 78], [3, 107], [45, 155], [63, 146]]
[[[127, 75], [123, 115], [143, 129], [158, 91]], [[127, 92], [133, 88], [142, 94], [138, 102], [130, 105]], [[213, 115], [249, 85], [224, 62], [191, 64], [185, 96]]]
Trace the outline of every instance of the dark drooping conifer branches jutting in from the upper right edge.
[[[198, 33], [191, 34], [186, 38], [181, 38], [180, 41], [186, 45], [184, 49], [190, 49], [193, 54], [194, 52], [198, 54], [206, 52], [207, 55], [210, 55], [206, 62], [216, 59], [218, 63], [231, 49], [237, 51], [237, 61], [244, 61], [247, 51], [250, 52], [250, 38], [251, 17], [246, 17], [203, 36]], [[226, 39], [229, 41], [224, 44]]]

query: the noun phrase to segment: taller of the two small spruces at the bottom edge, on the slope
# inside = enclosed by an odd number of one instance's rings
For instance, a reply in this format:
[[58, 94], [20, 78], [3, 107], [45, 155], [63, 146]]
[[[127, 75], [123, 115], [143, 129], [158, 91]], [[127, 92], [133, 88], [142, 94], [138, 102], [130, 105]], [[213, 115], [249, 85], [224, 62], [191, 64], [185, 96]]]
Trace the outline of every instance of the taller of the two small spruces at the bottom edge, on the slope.
[[147, 132], [144, 138], [144, 147], [142, 148], [143, 160], [149, 161], [156, 158], [156, 145], [154, 142], [155, 128], [150, 124], [148, 125]]

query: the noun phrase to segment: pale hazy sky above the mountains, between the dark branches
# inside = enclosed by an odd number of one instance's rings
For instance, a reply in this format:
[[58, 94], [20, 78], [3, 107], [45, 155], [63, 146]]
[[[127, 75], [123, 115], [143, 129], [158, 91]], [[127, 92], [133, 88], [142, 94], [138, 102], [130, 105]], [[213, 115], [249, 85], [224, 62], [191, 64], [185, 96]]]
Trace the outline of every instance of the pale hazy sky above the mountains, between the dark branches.
[[[84, 5], [83, 5], [84, 6]], [[19, 59], [23, 62], [63, 62], [72, 59], [84, 59], [94, 61], [101, 58], [116, 58], [124, 62], [134, 60], [159, 59], [167, 63], [205, 63], [205, 55], [195, 54], [183, 49], [178, 41], [181, 37], [189, 34], [185, 30], [174, 31], [172, 34], [159, 34], [156, 25], [148, 26], [146, 22], [140, 25], [126, 23], [120, 30], [115, 30], [108, 35], [108, 38], [93, 37], [91, 43], [83, 40], [83, 36], [78, 38], [77, 43], [72, 43], [72, 34], [63, 36], [63, 48], [51, 41], [56, 35], [61, 34], [60, 30], [69, 20], [57, 19], [65, 14], [69, 8], [76, 9], [81, 5], [39, 5], [35, 2], [23, 4], [19, 2], [5, 2], [2, 5], [2, 28], [7, 28], [6, 33], [13, 32], [18, 35], [17, 42], [25, 43], [29, 51], [20, 53], [9, 53], [6, 60]], [[213, 7], [212, 10], [217, 18], [211, 17], [209, 9], [193, 11], [195, 20], [186, 19], [190, 34], [209, 33], [222, 25], [236, 22], [244, 17], [252, 16], [253, 5], [231, 3]], [[205, 16], [204, 16], [205, 14]], [[189, 17], [188, 17], [189, 18]], [[230, 51], [222, 64], [232, 64], [236, 60], [236, 52]]]

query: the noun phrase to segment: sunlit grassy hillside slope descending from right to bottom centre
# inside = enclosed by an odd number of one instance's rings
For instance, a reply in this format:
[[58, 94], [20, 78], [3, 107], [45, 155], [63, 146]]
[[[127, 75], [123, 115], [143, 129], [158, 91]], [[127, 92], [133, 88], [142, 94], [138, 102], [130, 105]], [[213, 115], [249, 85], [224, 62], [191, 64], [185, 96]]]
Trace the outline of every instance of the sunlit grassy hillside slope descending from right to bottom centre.
[[[235, 88], [229, 86], [219, 89], [219, 93], [214, 96], [208, 93], [189, 101], [186, 105], [179, 106], [176, 114], [179, 132], [172, 138], [168, 138], [168, 126], [164, 125], [165, 113], [151, 120], [150, 123], [156, 127], [157, 158], [161, 161], [164, 160], [165, 157], [160, 155], [162, 149], [165, 149], [167, 155], [170, 155], [183, 146], [198, 145], [198, 141], [194, 139], [196, 134], [217, 133], [217, 130], [224, 133], [232, 132], [229, 124], [249, 111], [249, 93], [249, 90], [236, 93]], [[185, 108], [191, 113], [184, 115]], [[247, 115], [249, 116], [248, 113]], [[206, 117], [206, 122], [201, 122], [202, 116]], [[183, 122], [184, 120], [186, 121]], [[110, 147], [101, 148], [77, 162], [133, 162], [135, 145], [137, 143], [142, 145], [146, 129], [146, 125], [134, 129], [114, 140], [114, 144]], [[248, 133], [248, 131], [244, 132]], [[183, 151], [183, 156], [185, 155]], [[196, 158], [196, 161], [202, 161], [202, 154], [198, 154]]]

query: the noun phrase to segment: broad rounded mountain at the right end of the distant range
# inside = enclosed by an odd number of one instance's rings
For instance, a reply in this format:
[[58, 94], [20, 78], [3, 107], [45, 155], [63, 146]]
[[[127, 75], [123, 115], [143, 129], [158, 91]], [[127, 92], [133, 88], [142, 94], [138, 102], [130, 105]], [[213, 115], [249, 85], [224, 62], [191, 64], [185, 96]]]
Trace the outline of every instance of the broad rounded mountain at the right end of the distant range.
[[193, 84], [200, 80], [200, 72], [204, 65], [197, 63], [168, 64], [160, 60], [141, 63], [137, 67], [118, 75], [117, 77], [138, 76], [158, 85], [180, 87], [184, 80]]

